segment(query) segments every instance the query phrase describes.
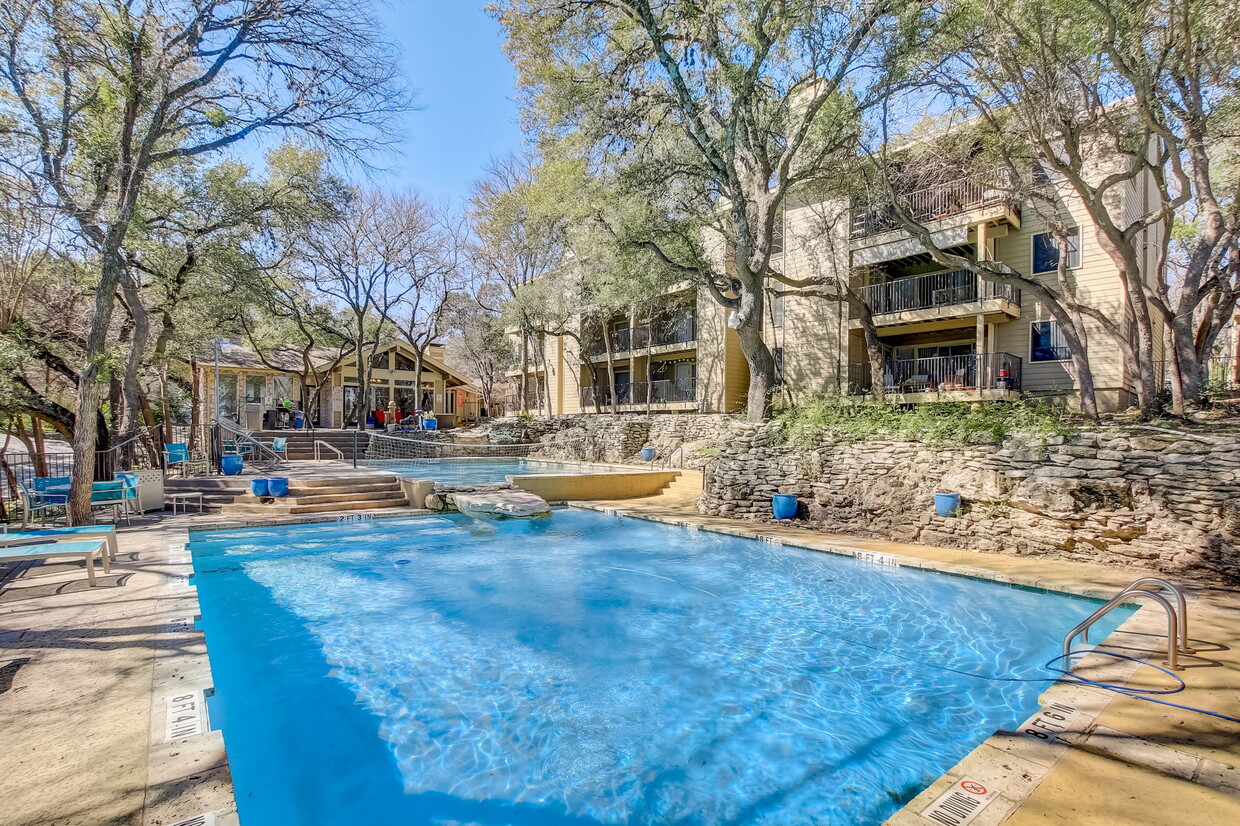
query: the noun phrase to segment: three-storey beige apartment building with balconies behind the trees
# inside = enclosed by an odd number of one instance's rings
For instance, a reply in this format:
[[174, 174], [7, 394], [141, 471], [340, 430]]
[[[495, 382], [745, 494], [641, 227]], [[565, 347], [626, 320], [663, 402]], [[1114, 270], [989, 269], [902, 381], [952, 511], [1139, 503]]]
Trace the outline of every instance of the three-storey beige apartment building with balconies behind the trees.
[[[903, 195], [936, 246], [994, 260], [1048, 284], [1056, 283], [1060, 249], [1048, 232], [1048, 211], [1068, 220], [1066, 269], [1078, 300], [1131, 330], [1126, 294], [1094, 227], [1066, 187], [1047, 180], [1058, 203], [1032, 205], [985, 180], [939, 182]], [[1143, 212], [1148, 182], [1132, 185], [1112, 208]], [[1157, 238], [1146, 244], [1153, 273]], [[870, 308], [884, 350], [888, 401], [1047, 398], [1074, 403], [1076, 381], [1059, 325], [1040, 301], [1013, 286], [980, 282], [968, 270], [937, 265], [883, 203], [790, 201], [774, 267], [795, 279], [848, 279]], [[615, 389], [609, 389], [608, 347], [578, 347], [546, 337], [531, 358], [525, 399], [510, 409], [578, 412], [737, 412], [744, 408], [748, 368], [730, 310], [691, 285], [671, 290], [650, 318], [615, 318], [608, 325]], [[1135, 332], [1132, 334], [1135, 336]], [[807, 393], [874, 397], [862, 325], [846, 303], [800, 295], [771, 296], [764, 336], [776, 370], [795, 398]], [[1090, 362], [1102, 409], [1136, 399], [1137, 375], [1100, 326], [1087, 327]], [[1161, 347], [1156, 358], [1161, 358]], [[536, 368], [533, 365], [538, 363]], [[508, 372], [516, 387], [521, 370]], [[537, 382], [537, 388], [534, 382]], [[613, 402], [615, 407], [613, 408]]]

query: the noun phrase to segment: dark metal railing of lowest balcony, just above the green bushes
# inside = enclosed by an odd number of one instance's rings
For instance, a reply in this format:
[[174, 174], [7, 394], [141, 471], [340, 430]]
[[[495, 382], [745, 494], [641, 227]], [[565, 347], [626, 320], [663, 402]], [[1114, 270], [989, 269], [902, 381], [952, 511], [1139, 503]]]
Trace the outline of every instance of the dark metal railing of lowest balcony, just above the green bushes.
[[[848, 365], [849, 396], [870, 393], [873, 389], [869, 363]], [[888, 393], [1019, 391], [1021, 358], [1007, 352], [893, 358], [883, 367], [883, 389]]]

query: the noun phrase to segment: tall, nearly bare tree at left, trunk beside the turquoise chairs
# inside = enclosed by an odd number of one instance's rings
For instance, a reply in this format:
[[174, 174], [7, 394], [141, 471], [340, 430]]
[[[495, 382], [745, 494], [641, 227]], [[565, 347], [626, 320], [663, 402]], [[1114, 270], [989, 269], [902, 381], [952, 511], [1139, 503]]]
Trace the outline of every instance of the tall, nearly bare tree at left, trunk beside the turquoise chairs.
[[404, 105], [361, 6], [336, 0], [14, 0], [0, 10], [0, 151], [89, 244], [69, 515], [86, 523], [124, 249], [153, 172], [296, 130], [347, 150]]

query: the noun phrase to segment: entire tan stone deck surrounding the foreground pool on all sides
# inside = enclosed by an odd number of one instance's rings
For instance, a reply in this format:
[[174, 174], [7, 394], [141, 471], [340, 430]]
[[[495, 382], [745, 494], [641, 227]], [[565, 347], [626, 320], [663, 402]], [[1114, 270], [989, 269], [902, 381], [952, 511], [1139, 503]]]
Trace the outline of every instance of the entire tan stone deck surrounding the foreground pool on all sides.
[[[1145, 573], [712, 518], [696, 512], [693, 499], [675, 490], [582, 506], [1080, 594], [1110, 595]], [[322, 518], [264, 517], [262, 525], [308, 521]], [[246, 523], [254, 522], [192, 513], [134, 520], [120, 528], [120, 557], [97, 588], [87, 585], [78, 562], [0, 567], [0, 820], [6, 826], [169, 826], [203, 812], [213, 812], [219, 826], [236, 824], [219, 733], [177, 737], [169, 712], [171, 701], [210, 686], [202, 635], [186, 623], [197, 605], [185, 578], [186, 532]], [[1199, 654], [1184, 657], [1189, 668], [1180, 675], [1188, 687], [1173, 701], [1240, 714], [1240, 593], [1190, 587], [1188, 597]], [[1152, 637], [1145, 635], [1158, 629], [1158, 615], [1143, 609], [1112, 641], [1148, 654]], [[1132, 673], [1136, 666], [1092, 660], [1083, 665], [1092, 677], [1151, 687], [1167, 682], [1148, 668]], [[962, 779], [990, 790], [970, 821], [978, 826], [1240, 822], [1240, 726], [1079, 686], [1054, 686], [1044, 699], [1075, 709], [1054, 743], [999, 733], [888, 822], [941, 826], [923, 812]]]

